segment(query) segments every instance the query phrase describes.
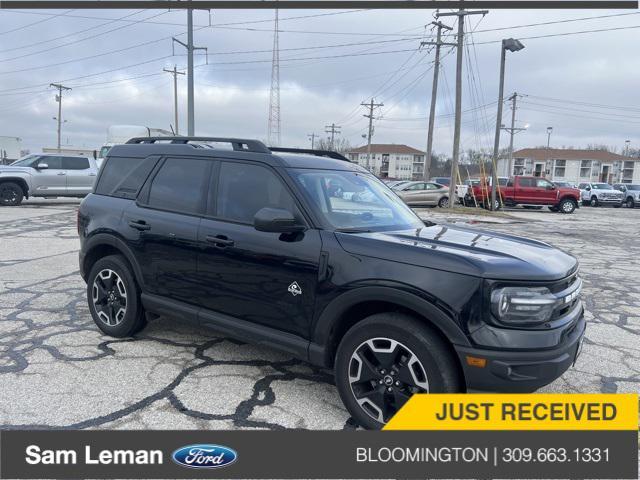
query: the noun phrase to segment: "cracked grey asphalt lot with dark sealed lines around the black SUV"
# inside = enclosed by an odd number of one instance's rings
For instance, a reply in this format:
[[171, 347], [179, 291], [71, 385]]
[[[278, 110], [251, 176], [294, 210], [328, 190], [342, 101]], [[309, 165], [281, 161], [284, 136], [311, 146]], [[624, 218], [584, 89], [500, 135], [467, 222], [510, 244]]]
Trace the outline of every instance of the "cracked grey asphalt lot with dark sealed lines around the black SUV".
[[[77, 205], [0, 209], [0, 428], [355, 428], [331, 372], [286, 354], [170, 318], [133, 339], [102, 335], [78, 272]], [[582, 355], [543, 391], [638, 392], [640, 209], [509, 213], [477, 226], [572, 253], [585, 281]]]

